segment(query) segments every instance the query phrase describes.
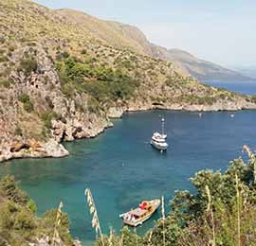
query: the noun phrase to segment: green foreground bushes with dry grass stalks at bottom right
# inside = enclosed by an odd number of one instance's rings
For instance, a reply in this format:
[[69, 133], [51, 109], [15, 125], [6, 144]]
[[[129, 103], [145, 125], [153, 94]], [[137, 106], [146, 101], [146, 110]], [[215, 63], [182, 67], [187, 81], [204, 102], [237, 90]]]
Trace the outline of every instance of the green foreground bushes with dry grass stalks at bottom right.
[[[105, 246], [256, 245], [256, 159], [236, 159], [225, 173], [202, 170], [191, 179], [195, 192], [178, 191], [171, 212], [143, 237], [111, 231]], [[102, 246], [101, 239], [95, 243]]]

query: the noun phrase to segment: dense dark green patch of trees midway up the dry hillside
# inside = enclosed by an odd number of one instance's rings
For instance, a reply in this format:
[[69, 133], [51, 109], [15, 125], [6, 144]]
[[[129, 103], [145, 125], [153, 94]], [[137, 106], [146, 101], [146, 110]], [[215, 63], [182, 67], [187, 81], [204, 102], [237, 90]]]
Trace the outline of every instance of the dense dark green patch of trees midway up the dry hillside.
[[74, 97], [75, 92], [88, 93], [101, 105], [134, 97], [138, 86], [136, 79], [119, 69], [94, 66], [76, 58], [69, 57], [58, 62], [57, 68], [66, 97]]

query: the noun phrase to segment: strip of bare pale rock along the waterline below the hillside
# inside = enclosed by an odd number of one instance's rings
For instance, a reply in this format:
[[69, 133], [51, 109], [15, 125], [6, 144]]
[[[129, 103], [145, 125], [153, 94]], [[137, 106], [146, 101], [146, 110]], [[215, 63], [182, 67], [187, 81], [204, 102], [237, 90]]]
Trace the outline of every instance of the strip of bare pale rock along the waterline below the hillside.
[[[9, 143], [0, 145], [0, 163], [11, 159], [20, 158], [61, 158], [69, 155], [67, 149], [62, 145], [63, 141], [74, 141], [75, 139], [93, 138], [105, 131], [109, 127], [113, 127], [110, 118], [121, 118], [124, 113], [141, 112], [149, 110], [172, 110], [172, 111], [187, 111], [187, 112], [218, 112], [218, 111], [240, 111], [240, 110], [256, 110], [256, 105], [245, 101], [239, 103], [230, 103], [226, 101], [218, 102], [213, 105], [152, 105], [143, 103], [130, 103], [126, 107], [112, 107], [108, 110], [107, 119], [101, 124], [92, 127], [91, 131], [81, 125], [77, 127], [54, 120], [52, 122], [52, 135], [46, 143], [28, 139], [27, 141], [13, 140]], [[79, 129], [79, 131], [78, 131]], [[69, 133], [68, 133], [69, 132]], [[74, 132], [77, 134], [74, 135]], [[64, 140], [62, 137], [65, 134]]]

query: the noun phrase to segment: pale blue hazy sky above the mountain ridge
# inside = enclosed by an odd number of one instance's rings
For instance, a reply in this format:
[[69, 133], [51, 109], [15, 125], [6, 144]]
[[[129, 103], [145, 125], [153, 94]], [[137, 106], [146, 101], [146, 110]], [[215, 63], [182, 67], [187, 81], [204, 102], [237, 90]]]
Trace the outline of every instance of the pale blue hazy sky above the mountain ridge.
[[153, 44], [232, 67], [256, 67], [256, 0], [35, 0], [139, 27]]

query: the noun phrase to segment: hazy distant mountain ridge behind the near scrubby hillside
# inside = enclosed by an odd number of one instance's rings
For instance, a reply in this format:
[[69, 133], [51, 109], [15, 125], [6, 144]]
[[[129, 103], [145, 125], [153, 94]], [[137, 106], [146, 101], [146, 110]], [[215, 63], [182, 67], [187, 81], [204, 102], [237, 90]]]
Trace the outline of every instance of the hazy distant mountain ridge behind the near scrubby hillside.
[[155, 59], [177, 63], [185, 73], [200, 81], [248, 81], [249, 76], [232, 71], [212, 62], [202, 61], [192, 54], [179, 49], [166, 49], [150, 44], [146, 36], [136, 26], [117, 22], [103, 21], [93, 16], [72, 9], [59, 9], [57, 13], [70, 22], [86, 28], [95, 37], [107, 44], [119, 48], [128, 48], [139, 54], [148, 55]]

